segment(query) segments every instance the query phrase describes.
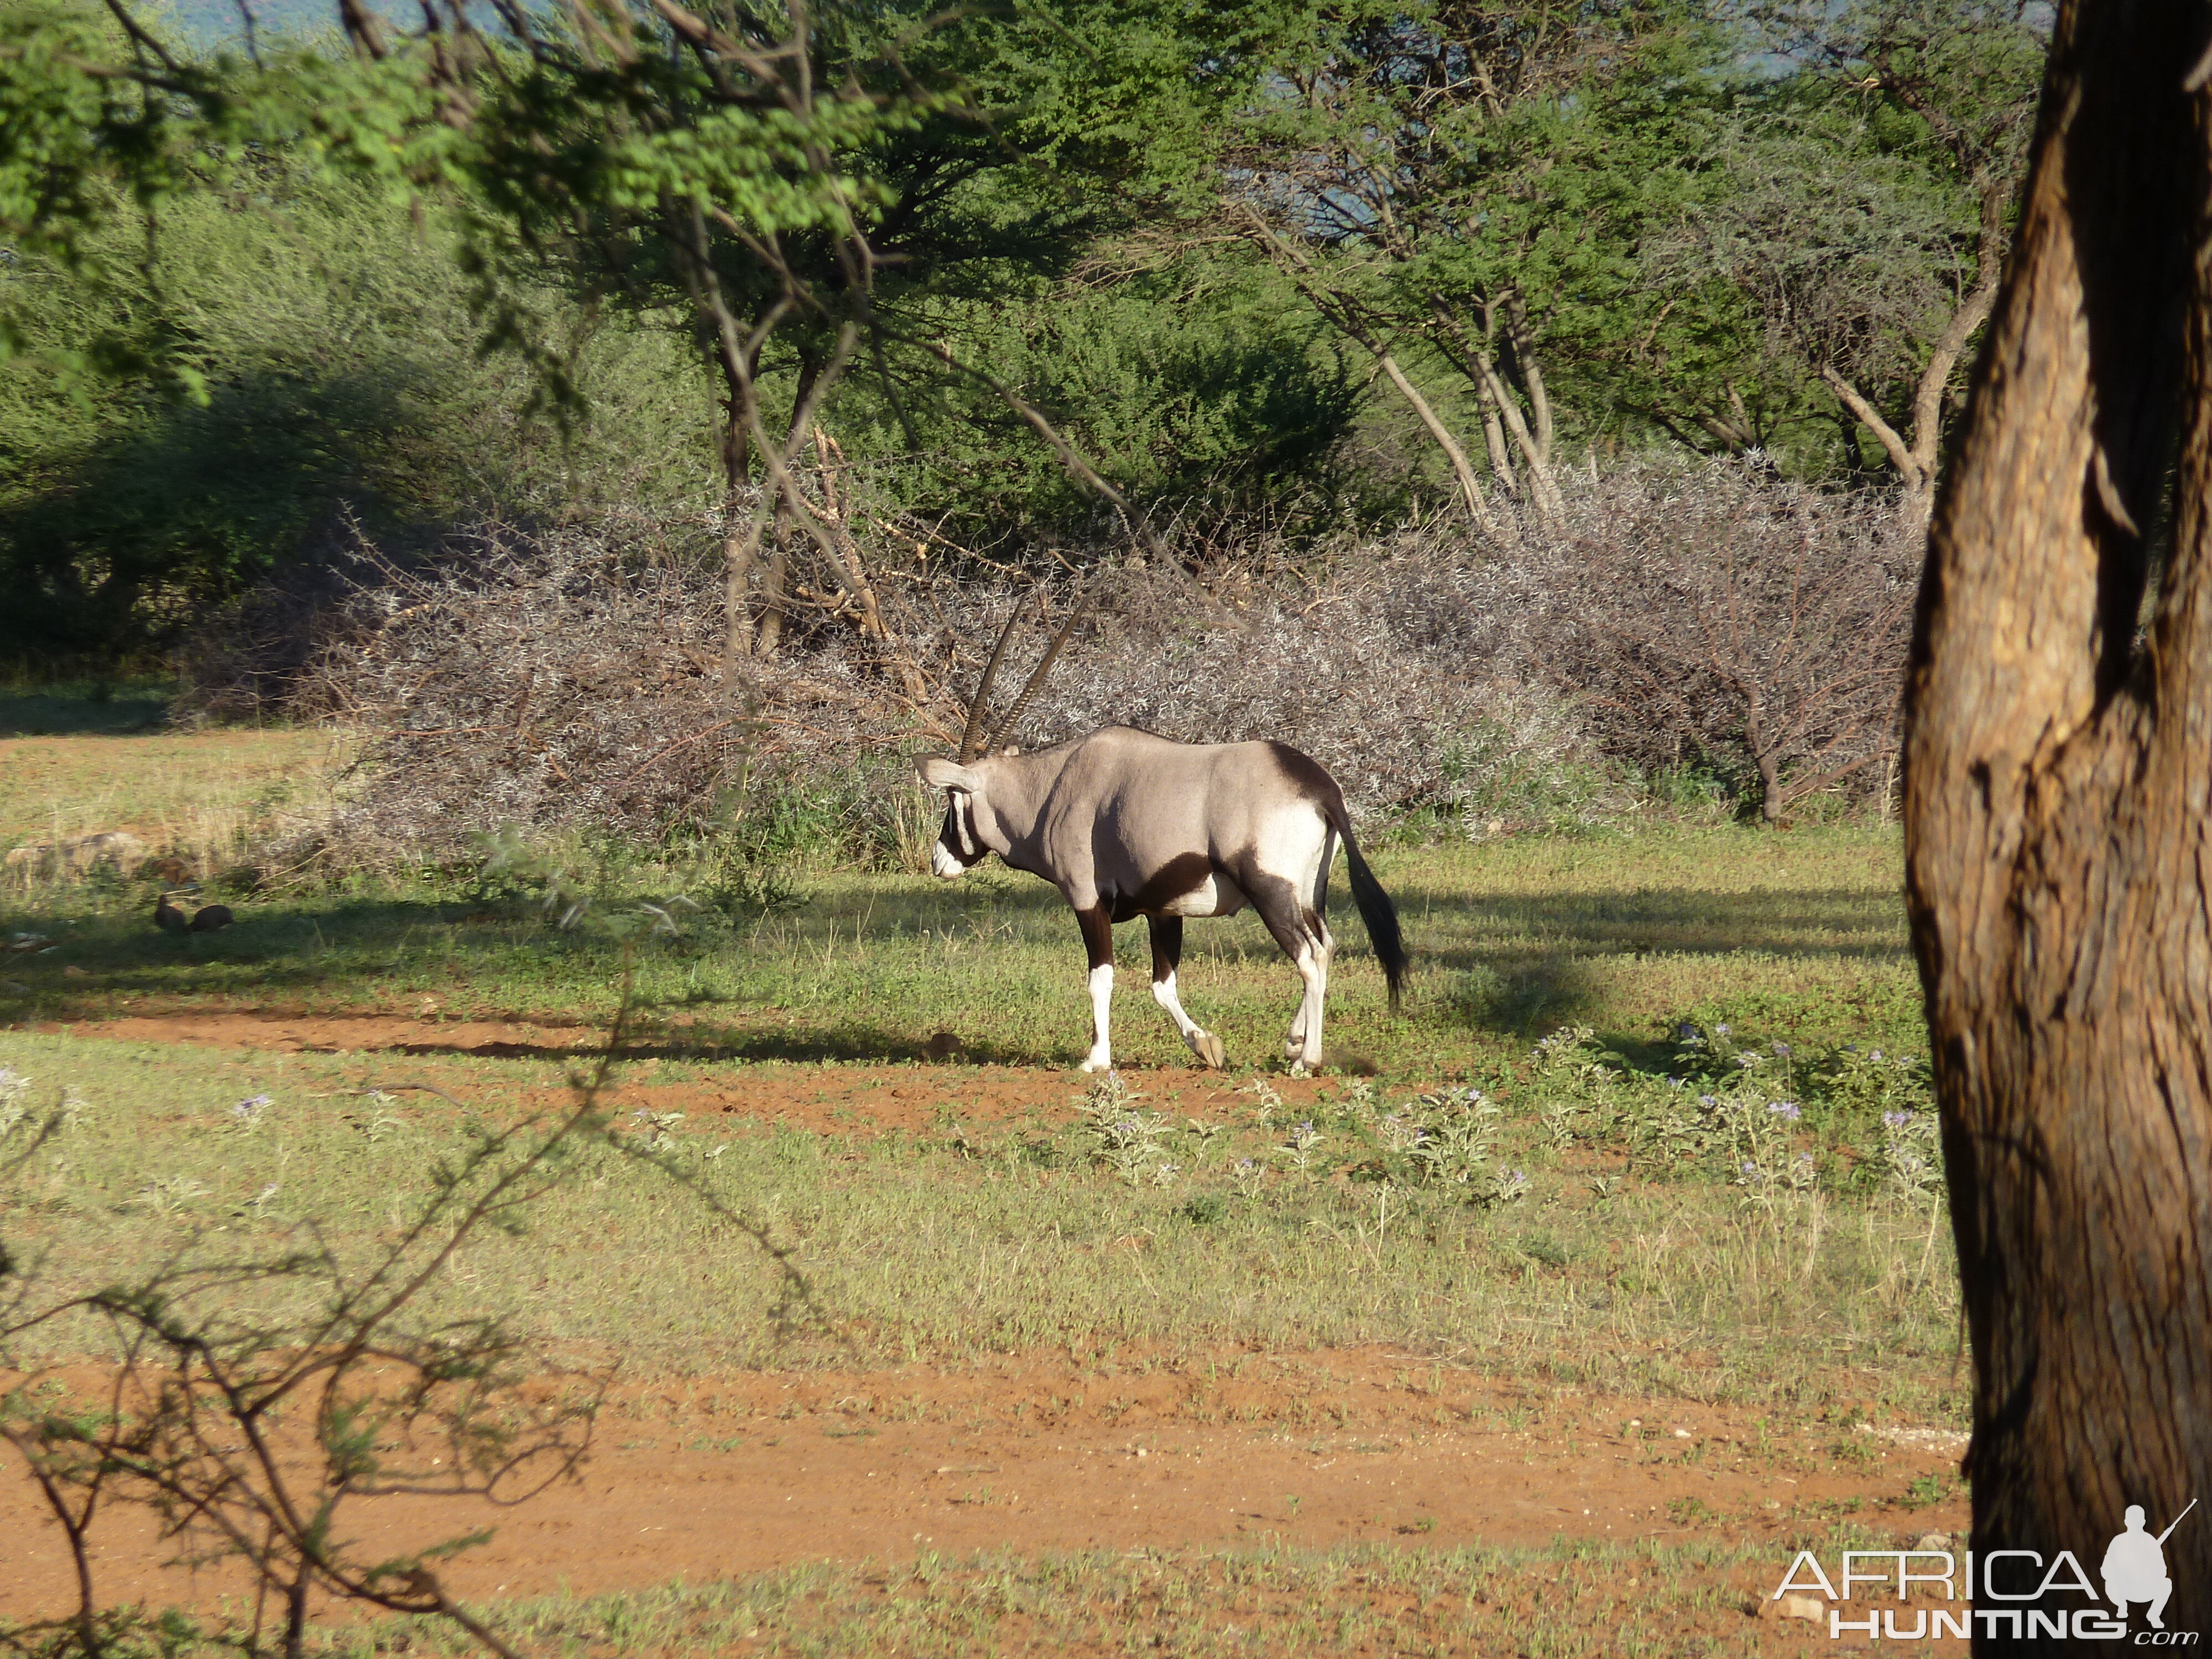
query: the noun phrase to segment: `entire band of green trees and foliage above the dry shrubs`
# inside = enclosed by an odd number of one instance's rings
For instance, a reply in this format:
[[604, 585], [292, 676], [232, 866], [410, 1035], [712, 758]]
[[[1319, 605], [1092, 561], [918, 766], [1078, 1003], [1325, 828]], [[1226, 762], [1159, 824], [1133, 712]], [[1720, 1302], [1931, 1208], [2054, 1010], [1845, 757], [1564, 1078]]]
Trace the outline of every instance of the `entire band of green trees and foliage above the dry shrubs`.
[[807, 394], [865, 511], [1015, 557], [1402, 507], [1442, 469], [1383, 349], [1515, 489], [1500, 398], [1551, 467], [1863, 473], [1832, 380], [1907, 420], [2044, 44], [1980, 0], [429, 15], [0, 18], [22, 639], [157, 644], [347, 513], [728, 518]]

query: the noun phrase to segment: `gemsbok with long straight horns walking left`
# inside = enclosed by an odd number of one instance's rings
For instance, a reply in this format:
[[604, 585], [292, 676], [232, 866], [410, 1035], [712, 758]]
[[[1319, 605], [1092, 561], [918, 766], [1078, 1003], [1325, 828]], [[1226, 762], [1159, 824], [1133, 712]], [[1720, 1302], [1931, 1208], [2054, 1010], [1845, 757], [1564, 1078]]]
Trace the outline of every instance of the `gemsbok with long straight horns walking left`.
[[1290, 743], [1175, 743], [1130, 726], [1102, 726], [1048, 750], [1002, 750], [1082, 604], [1068, 611], [1022, 695], [982, 737], [984, 708], [1015, 617], [1000, 633], [969, 703], [960, 759], [927, 757], [916, 770], [945, 790], [945, 830], [929, 867], [951, 880], [984, 854], [1042, 876], [1075, 907], [1091, 953], [1091, 1053], [1084, 1071], [1113, 1064], [1113, 925], [1144, 916], [1152, 933], [1152, 1000], [1208, 1066], [1225, 1064], [1221, 1037], [1199, 1026], [1175, 993], [1183, 918], [1234, 916], [1245, 905], [1305, 982], [1283, 1057], [1294, 1073], [1321, 1064], [1321, 1004], [1329, 989], [1329, 865], [1336, 843], [1352, 872], [1352, 902], [1389, 982], [1396, 1011], [1405, 987], [1398, 909], [1367, 869], [1345, 792]]

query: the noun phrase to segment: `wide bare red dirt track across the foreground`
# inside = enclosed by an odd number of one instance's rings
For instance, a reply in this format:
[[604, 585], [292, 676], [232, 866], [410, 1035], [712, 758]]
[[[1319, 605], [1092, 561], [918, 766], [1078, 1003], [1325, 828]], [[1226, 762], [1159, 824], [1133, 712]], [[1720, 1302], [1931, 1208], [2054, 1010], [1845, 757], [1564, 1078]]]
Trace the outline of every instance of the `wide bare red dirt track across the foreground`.
[[[925, 1551], [1267, 1542], [1703, 1535], [1770, 1542], [1778, 1582], [1790, 1540], [1845, 1513], [1902, 1540], [1962, 1533], [1962, 1498], [1907, 1500], [1916, 1478], [1955, 1464], [1940, 1433], [1783, 1427], [1734, 1407], [1504, 1385], [1389, 1349], [1181, 1363], [1033, 1354], [964, 1371], [765, 1371], [633, 1389], [602, 1418], [575, 1482], [513, 1506], [356, 1500], [343, 1531], [365, 1555], [387, 1555], [495, 1528], [449, 1571], [482, 1601]], [[0, 1537], [11, 1540], [0, 1617], [62, 1610], [66, 1557], [27, 1482], [0, 1482]], [[115, 1597], [212, 1608], [239, 1588], [223, 1573], [159, 1568], [170, 1551], [137, 1515], [111, 1517], [95, 1542]], [[1741, 1595], [1745, 1617], [1756, 1595]]]

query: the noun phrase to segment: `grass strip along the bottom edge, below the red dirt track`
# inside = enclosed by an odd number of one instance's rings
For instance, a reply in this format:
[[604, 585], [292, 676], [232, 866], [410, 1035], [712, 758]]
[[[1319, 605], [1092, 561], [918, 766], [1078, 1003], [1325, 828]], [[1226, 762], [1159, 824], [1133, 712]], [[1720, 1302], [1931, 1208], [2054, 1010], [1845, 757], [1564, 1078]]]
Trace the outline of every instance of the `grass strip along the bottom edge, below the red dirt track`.
[[[854, 1659], [1051, 1655], [1763, 1655], [1752, 1608], [1798, 1544], [1834, 1559], [1858, 1531], [1772, 1544], [1557, 1542], [1546, 1548], [1276, 1544], [1128, 1555], [922, 1553], [902, 1566], [823, 1564], [599, 1597], [511, 1601], [493, 1628], [524, 1652], [750, 1652]], [[1809, 1632], [1807, 1632], [1809, 1635]], [[195, 1652], [195, 1646], [177, 1652]], [[431, 1619], [310, 1632], [310, 1652], [460, 1655]]]

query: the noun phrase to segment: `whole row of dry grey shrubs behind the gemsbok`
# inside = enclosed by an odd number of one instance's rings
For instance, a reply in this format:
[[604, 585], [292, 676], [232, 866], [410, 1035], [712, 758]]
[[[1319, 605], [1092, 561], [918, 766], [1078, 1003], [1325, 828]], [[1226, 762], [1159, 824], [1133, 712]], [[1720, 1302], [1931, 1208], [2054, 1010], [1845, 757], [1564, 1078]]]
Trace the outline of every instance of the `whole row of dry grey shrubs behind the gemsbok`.
[[801, 611], [774, 657], [734, 670], [703, 549], [641, 520], [482, 526], [429, 568], [365, 553], [319, 611], [294, 699], [369, 737], [325, 841], [345, 860], [451, 860], [504, 825], [666, 845], [805, 799], [847, 852], [911, 863], [933, 823], [907, 757], [958, 739], [1011, 608], [1026, 626], [1000, 710], [1091, 584], [1013, 741], [1110, 721], [1272, 737], [1327, 765], [1369, 827], [1409, 810], [1473, 834], [1559, 827], [1630, 812], [1630, 768], [1752, 776], [1765, 757], [1787, 799], [1885, 752], [1902, 635], [1885, 633], [1898, 571], [1876, 509], [1741, 465], [1624, 469], [1577, 484], [1562, 524], [1509, 520], [1486, 544], [1438, 518], [1217, 544], [1210, 597], [1137, 557], [956, 580], [874, 542], [883, 637], [849, 606]]

